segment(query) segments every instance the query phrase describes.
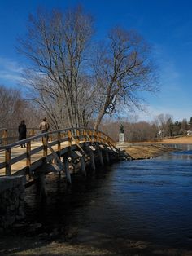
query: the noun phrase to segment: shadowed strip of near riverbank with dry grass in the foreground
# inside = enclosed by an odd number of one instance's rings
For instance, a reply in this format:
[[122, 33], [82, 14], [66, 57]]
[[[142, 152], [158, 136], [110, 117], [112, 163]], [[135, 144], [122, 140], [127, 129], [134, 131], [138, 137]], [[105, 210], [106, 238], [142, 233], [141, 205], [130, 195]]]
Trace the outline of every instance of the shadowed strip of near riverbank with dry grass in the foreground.
[[[96, 234], [98, 238], [98, 234]], [[65, 241], [63, 238], [40, 241], [37, 237], [15, 237], [9, 249], [0, 249], [1, 256], [191, 256], [192, 251], [177, 247], [155, 245], [120, 237], [103, 236], [94, 240], [94, 234], [85, 241]]]

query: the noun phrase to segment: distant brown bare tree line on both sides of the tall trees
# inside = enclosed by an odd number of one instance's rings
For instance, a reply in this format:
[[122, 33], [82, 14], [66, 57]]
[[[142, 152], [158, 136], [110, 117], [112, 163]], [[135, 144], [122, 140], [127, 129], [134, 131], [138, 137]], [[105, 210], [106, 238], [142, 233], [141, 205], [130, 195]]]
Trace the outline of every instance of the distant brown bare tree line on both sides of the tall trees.
[[[0, 128], [17, 128], [21, 120], [25, 120], [30, 129], [38, 128], [41, 118], [45, 113], [37, 108], [33, 101], [22, 95], [20, 90], [6, 86], [0, 86]], [[121, 125], [121, 126], [120, 126]], [[120, 127], [124, 128], [124, 139], [128, 142], [155, 141], [164, 137], [186, 135], [187, 130], [192, 130], [192, 117], [182, 121], [173, 121], [172, 116], [160, 114], [153, 121], [117, 121], [115, 118], [107, 118], [100, 125], [103, 130], [115, 141], [118, 141]], [[90, 123], [90, 128], [94, 123]], [[55, 128], [52, 126], [52, 130]], [[159, 131], [162, 131], [159, 134]]]

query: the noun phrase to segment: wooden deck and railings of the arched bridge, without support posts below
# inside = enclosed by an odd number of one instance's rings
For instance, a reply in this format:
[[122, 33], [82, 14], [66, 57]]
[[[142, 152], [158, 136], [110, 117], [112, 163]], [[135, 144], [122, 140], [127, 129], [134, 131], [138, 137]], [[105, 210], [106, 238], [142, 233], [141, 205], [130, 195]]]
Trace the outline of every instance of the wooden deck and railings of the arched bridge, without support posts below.
[[[50, 141], [47, 142], [46, 135]], [[103, 132], [98, 130], [64, 129], [55, 130], [46, 134], [24, 139], [22, 143], [26, 148], [20, 148], [20, 143], [11, 143], [0, 147], [0, 176], [26, 174], [37, 170], [43, 164], [55, 159], [59, 160], [64, 154], [67, 156], [73, 151], [81, 152], [84, 155], [83, 147], [85, 144], [109, 148], [116, 151], [116, 143]], [[97, 146], [96, 146], [97, 145]]]

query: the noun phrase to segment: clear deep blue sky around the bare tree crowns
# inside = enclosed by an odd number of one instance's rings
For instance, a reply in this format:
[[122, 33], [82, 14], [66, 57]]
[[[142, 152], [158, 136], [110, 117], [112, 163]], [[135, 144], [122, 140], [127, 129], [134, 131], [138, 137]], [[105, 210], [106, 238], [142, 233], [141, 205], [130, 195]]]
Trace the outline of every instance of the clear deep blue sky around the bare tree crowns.
[[65, 10], [81, 3], [94, 15], [98, 38], [118, 24], [136, 29], [152, 46], [159, 66], [160, 92], [146, 95], [151, 120], [161, 113], [175, 121], [192, 116], [192, 1], [190, 0], [7, 0], [0, 2], [0, 84], [18, 86], [24, 57], [15, 51], [16, 38], [26, 33], [28, 14], [39, 6]]

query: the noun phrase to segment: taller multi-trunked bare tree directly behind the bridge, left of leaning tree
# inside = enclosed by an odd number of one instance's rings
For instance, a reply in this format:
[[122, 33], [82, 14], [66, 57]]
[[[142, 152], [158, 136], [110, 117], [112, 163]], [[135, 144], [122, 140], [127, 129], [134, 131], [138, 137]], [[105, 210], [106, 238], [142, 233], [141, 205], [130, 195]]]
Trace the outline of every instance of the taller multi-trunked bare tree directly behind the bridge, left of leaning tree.
[[38, 11], [29, 17], [27, 38], [20, 39], [19, 51], [33, 64], [24, 77], [37, 91], [35, 100], [55, 128], [63, 127], [66, 117], [69, 126], [85, 125], [82, 118], [90, 115], [86, 104], [80, 103], [92, 95], [91, 87], [87, 90], [82, 82], [92, 24], [81, 7], [64, 14]]

